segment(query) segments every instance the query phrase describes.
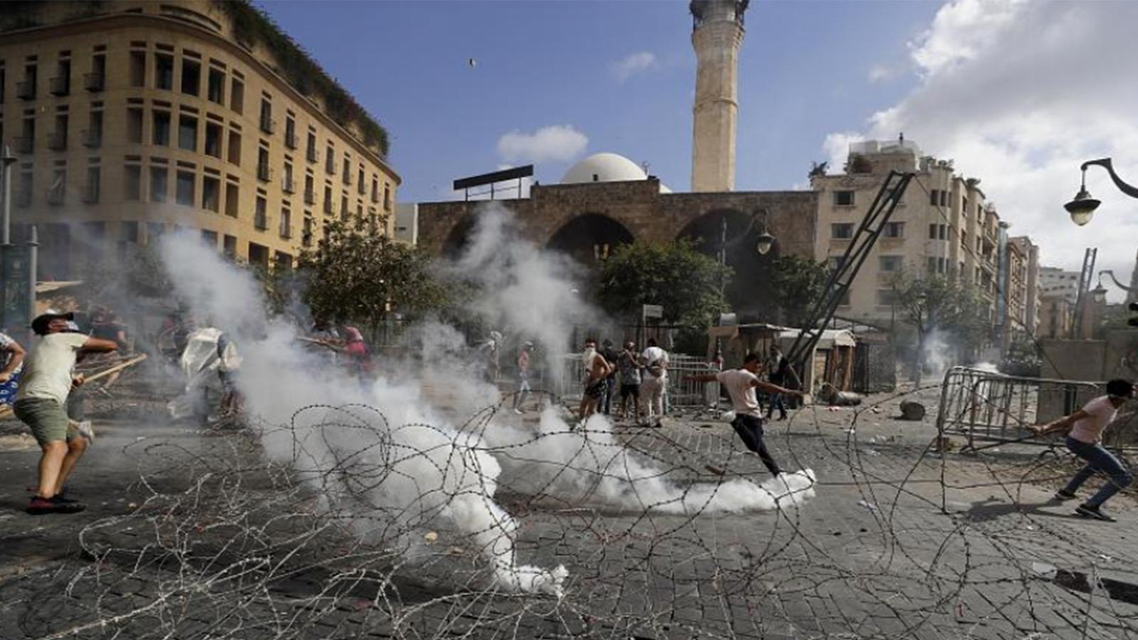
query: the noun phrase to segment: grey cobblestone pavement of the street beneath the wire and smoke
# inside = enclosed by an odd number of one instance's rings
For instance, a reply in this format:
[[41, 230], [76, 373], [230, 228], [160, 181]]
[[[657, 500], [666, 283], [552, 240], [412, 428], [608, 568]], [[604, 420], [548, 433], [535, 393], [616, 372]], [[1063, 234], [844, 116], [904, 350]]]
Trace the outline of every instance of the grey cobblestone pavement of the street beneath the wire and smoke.
[[[553, 503], [503, 476], [519, 561], [564, 565], [560, 599], [494, 589], [444, 524], [424, 540], [327, 515], [248, 434], [104, 422], [74, 483], [89, 510], [39, 518], [22, 510], [38, 452], [3, 436], [0, 639], [1138, 637], [1132, 497], [1119, 523], [1078, 518], [1049, 501], [1065, 459], [942, 458], [932, 416], [879, 401], [769, 425], [776, 459], [817, 474], [798, 508]], [[681, 485], [767, 478], [720, 421], [616, 432]]]

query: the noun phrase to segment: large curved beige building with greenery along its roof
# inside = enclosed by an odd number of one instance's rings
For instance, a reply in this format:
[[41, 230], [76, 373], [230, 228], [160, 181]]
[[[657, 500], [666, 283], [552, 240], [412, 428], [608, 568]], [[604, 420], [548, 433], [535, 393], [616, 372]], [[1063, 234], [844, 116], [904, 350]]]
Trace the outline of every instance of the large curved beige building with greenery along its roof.
[[261, 264], [333, 219], [390, 232], [386, 132], [249, 5], [22, 2], [0, 32], [14, 229], [36, 225], [42, 278], [175, 228]]

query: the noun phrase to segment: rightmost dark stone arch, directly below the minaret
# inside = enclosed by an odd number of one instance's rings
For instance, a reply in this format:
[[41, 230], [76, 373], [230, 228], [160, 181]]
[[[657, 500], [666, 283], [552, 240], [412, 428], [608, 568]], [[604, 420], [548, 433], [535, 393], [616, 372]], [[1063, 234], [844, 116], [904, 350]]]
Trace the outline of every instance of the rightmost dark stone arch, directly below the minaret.
[[777, 310], [770, 303], [769, 269], [778, 256], [778, 243], [759, 255], [754, 248], [761, 232], [759, 222], [736, 208], [715, 208], [691, 220], [676, 238], [693, 240], [700, 253], [717, 260], [726, 238], [726, 263], [734, 271], [725, 292], [727, 302], [749, 319], [773, 321]]

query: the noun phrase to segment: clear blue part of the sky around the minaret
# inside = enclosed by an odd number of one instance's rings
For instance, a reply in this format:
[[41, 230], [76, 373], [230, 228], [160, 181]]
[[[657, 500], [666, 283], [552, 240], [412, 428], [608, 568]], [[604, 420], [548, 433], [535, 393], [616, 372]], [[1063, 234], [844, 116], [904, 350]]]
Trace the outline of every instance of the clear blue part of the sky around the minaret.
[[[686, 2], [263, 2], [391, 133], [399, 198], [438, 199], [454, 178], [493, 171], [510, 131], [571, 125], [584, 155], [615, 151], [673, 188], [691, 171], [695, 58]], [[754, 2], [740, 61], [739, 189], [789, 188], [912, 77], [871, 83], [904, 58], [935, 2]], [[622, 81], [634, 54], [654, 63]], [[475, 58], [471, 68], [468, 59]], [[523, 161], [516, 161], [520, 164]], [[543, 182], [568, 162], [537, 164]]]

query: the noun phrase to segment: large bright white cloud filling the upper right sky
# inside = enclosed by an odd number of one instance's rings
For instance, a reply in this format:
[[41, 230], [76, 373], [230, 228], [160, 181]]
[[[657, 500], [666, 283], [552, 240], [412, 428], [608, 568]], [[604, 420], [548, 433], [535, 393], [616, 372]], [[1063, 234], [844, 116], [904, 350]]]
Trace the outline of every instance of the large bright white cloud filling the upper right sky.
[[[1011, 235], [1040, 244], [1045, 264], [1078, 269], [1097, 246], [1098, 269], [1127, 281], [1135, 265], [1138, 200], [1092, 167], [1103, 206], [1085, 228], [1063, 211], [1082, 161], [1112, 156], [1138, 182], [1138, 2], [954, 0], [909, 43], [921, 82], [861, 132], [830, 134], [836, 170], [859, 137], [906, 139], [983, 179]], [[1113, 295], [1112, 295], [1113, 297]]]

